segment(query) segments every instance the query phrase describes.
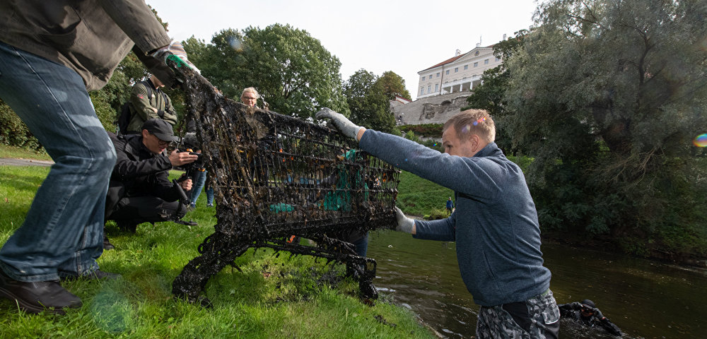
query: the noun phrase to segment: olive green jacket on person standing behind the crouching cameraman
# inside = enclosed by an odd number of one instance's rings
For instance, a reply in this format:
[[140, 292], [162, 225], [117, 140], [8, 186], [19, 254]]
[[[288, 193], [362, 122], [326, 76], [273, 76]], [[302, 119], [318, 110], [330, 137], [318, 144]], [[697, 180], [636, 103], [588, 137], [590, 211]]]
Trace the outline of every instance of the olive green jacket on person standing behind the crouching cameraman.
[[[150, 86], [150, 90], [147, 89]], [[148, 95], [149, 94], [149, 95]], [[147, 119], [164, 119], [174, 126], [177, 124], [177, 114], [172, 100], [162, 90], [155, 88], [150, 79], [133, 86], [130, 93], [130, 124], [128, 133], [142, 131], [142, 124]], [[157, 109], [157, 111], [155, 111]]]

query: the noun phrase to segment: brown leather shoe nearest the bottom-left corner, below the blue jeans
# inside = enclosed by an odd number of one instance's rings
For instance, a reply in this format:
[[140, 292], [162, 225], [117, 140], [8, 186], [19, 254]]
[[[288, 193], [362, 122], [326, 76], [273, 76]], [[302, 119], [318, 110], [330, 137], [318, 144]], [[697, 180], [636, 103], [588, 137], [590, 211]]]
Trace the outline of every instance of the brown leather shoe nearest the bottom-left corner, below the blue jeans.
[[49, 311], [65, 314], [63, 308], [78, 308], [83, 305], [81, 298], [71, 294], [58, 280], [28, 283], [14, 280], [0, 269], [0, 297], [13, 300], [26, 312]]

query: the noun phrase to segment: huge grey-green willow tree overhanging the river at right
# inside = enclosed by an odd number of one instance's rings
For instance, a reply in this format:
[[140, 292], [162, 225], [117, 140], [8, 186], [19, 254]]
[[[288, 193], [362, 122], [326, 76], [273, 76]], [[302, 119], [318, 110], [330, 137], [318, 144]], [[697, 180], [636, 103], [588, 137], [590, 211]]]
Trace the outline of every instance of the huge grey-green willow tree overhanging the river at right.
[[515, 143], [545, 226], [707, 253], [707, 3], [556, 0], [505, 61]]

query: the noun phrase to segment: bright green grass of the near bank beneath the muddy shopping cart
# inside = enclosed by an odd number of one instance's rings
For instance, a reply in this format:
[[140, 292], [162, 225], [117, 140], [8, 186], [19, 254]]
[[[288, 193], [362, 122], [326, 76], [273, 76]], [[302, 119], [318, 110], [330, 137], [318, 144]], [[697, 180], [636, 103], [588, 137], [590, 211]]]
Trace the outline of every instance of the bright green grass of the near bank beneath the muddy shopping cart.
[[[0, 244], [21, 225], [47, 167], [0, 166]], [[173, 175], [177, 175], [176, 173]], [[98, 259], [101, 269], [122, 274], [110, 281], [62, 283], [83, 300], [65, 316], [25, 314], [0, 299], [0, 338], [432, 338], [407, 309], [386, 295], [363, 304], [358, 284], [342, 278], [344, 267], [310, 256], [274, 256], [251, 249], [206, 285], [214, 303], [204, 309], [175, 299], [173, 279], [197, 246], [213, 232], [214, 208], [201, 194], [186, 227], [173, 222], [118, 232], [109, 222], [116, 249]], [[442, 201], [443, 203], [444, 201]], [[384, 321], [380, 321], [382, 319]], [[391, 324], [395, 324], [392, 326]]]

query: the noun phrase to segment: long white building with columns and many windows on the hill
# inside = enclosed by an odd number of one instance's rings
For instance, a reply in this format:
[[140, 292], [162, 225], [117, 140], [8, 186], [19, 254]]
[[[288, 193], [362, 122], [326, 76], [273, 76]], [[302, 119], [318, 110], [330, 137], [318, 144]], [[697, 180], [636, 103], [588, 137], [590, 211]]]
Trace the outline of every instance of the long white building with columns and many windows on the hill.
[[457, 49], [455, 57], [417, 72], [420, 76], [417, 100], [433, 95], [468, 92], [481, 85], [484, 71], [500, 64], [501, 58], [493, 55], [493, 45], [479, 47], [477, 44], [464, 54]]

